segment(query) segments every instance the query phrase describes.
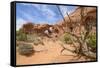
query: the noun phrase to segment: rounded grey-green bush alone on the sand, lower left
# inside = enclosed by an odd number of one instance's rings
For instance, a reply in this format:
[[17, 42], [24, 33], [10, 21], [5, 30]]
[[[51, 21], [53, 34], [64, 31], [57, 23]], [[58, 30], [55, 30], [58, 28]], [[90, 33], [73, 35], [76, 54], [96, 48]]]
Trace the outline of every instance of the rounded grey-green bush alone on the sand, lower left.
[[31, 56], [34, 54], [34, 48], [30, 44], [23, 44], [18, 46], [18, 52], [20, 55]]

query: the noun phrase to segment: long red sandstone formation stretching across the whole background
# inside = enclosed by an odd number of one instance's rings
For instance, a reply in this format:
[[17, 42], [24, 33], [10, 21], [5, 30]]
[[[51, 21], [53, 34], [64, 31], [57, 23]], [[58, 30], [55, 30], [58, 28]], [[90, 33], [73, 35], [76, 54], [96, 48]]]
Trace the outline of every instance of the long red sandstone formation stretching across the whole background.
[[[61, 35], [66, 31], [74, 31], [78, 32], [80, 31], [80, 27], [85, 25], [90, 19], [96, 23], [96, 8], [93, 7], [84, 7], [84, 17], [83, 22], [81, 19], [81, 8], [78, 7], [73, 13], [68, 16], [65, 16], [66, 21], [59, 21], [55, 25], [49, 25], [49, 24], [24, 24], [25, 27], [22, 27], [25, 33], [40, 33], [40, 34], [57, 34]], [[81, 24], [80, 24], [81, 23]], [[91, 22], [90, 22], [91, 23]], [[28, 28], [28, 26], [31, 26]], [[33, 26], [33, 27], [32, 27]]]

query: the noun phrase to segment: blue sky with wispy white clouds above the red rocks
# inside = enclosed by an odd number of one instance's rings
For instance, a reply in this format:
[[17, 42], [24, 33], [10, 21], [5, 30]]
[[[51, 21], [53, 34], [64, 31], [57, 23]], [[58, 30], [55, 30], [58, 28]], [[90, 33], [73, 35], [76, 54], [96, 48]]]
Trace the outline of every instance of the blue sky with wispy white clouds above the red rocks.
[[[63, 16], [66, 11], [70, 14], [75, 6], [60, 6]], [[17, 29], [23, 24], [32, 22], [35, 24], [56, 24], [62, 20], [56, 5], [32, 4], [32, 3], [17, 3], [16, 4], [16, 25]]]

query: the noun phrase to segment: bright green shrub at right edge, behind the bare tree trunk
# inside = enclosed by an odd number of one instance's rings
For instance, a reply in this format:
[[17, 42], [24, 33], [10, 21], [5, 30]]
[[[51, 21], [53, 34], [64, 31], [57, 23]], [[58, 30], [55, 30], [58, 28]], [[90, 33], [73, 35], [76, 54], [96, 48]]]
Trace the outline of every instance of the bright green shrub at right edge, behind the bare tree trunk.
[[96, 33], [91, 33], [87, 38], [87, 44], [91, 48], [96, 48]]

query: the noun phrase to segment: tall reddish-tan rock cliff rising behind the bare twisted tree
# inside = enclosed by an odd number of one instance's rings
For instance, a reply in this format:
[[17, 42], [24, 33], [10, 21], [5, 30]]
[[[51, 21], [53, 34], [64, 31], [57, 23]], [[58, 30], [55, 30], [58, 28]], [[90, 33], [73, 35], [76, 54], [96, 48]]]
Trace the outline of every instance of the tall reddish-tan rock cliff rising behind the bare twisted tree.
[[[66, 21], [62, 21], [60, 25], [64, 31], [79, 32], [88, 22], [96, 24], [96, 7], [78, 7], [74, 12], [65, 16]], [[81, 15], [82, 13], [82, 15]]]

